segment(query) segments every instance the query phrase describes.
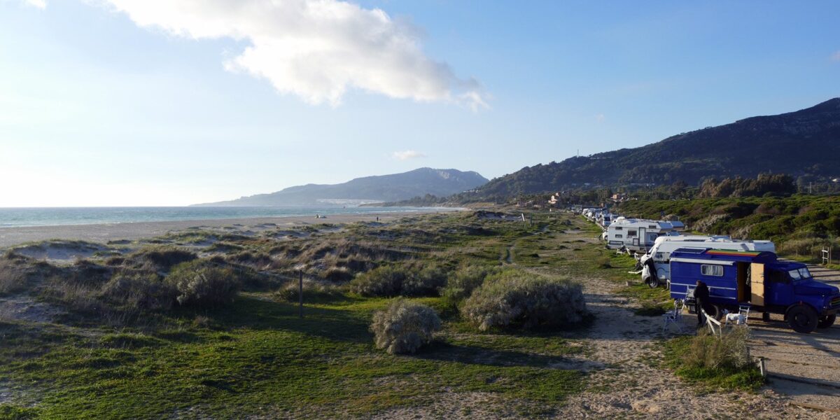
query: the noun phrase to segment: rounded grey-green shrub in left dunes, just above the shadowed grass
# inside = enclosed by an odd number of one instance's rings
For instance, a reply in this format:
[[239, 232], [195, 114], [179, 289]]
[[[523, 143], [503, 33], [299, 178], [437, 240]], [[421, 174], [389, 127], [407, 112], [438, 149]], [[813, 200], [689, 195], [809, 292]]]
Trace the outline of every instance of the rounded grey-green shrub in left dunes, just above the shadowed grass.
[[201, 260], [176, 265], [166, 282], [175, 287], [179, 304], [197, 307], [228, 304], [239, 291], [234, 270], [207, 265]]

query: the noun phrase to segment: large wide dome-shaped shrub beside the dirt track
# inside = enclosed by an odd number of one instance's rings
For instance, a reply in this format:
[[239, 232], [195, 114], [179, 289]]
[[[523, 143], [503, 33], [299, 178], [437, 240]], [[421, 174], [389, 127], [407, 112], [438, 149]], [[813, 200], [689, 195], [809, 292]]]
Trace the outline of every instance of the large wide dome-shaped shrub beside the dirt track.
[[561, 327], [583, 321], [586, 303], [578, 283], [504, 270], [473, 291], [461, 314], [482, 331]]

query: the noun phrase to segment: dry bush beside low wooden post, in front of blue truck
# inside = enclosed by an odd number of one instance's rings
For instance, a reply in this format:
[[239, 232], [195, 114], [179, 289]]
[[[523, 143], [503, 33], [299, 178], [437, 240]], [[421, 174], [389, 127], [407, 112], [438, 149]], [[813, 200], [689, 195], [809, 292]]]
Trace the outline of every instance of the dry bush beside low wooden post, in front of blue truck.
[[747, 328], [732, 328], [717, 336], [702, 330], [691, 339], [683, 363], [690, 367], [715, 370], [739, 370], [749, 363]]

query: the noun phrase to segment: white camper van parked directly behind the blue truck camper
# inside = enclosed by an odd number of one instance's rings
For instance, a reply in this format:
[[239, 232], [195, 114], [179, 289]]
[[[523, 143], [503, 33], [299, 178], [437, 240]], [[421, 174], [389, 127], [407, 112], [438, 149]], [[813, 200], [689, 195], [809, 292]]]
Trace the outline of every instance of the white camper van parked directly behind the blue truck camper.
[[776, 252], [776, 246], [769, 240], [738, 240], [728, 236], [664, 236], [656, 239], [648, 254], [642, 256], [642, 281], [651, 287], [658, 287], [671, 280], [671, 253], [678, 248], [714, 248], [738, 251]]

